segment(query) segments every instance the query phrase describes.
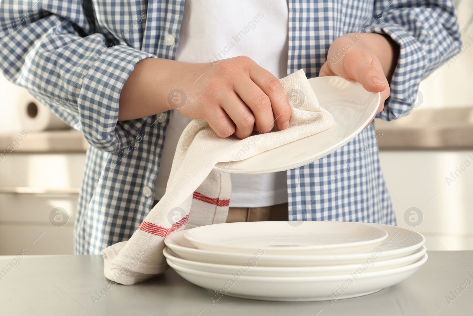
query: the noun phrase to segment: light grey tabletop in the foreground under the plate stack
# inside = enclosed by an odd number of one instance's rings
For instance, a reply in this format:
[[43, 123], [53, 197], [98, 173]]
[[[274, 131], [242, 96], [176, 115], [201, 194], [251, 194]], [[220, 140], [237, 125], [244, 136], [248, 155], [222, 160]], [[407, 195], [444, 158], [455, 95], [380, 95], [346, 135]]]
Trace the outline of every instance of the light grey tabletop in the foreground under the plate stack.
[[[473, 282], [473, 251], [429, 252], [427, 263], [411, 278], [333, 304], [223, 296], [212, 305], [214, 292], [189, 283], [172, 269], [147, 282], [112, 286], [103, 276], [101, 256], [26, 255], [9, 266], [12, 259], [0, 256], [1, 316], [473, 315], [473, 283], [465, 283]], [[3, 268], [8, 272], [1, 273]], [[455, 297], [450, 291], [456, 291]], [[447, 301], [447, 296], [452, 299]]]

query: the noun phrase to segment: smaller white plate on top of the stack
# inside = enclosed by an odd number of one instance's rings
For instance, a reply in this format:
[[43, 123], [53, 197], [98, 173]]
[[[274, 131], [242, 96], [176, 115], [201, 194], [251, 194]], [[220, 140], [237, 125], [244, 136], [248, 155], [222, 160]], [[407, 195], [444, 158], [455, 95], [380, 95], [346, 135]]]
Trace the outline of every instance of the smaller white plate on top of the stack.
[[375, 226], [355, 222], [268, 221], [195, 227], [184, 237], [202, 250], [290, 255], [366, 253], [386, 237]]

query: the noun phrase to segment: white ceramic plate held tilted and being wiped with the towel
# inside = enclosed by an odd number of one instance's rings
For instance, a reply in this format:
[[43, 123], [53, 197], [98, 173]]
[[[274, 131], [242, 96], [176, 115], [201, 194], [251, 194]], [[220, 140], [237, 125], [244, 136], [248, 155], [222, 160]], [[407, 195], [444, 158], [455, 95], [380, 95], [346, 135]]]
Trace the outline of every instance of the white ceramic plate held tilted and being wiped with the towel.
[[215, 169], [230, 173], [268, 173], [297, 168], [314, 162], [352, 140], [376, 114], [381, 95], [368, 92], [356, 81], [339, 76], [309, 79], [319, 104], [332, 114], [336, 126], [328, 130], [273, 148], [253, 157], [217, 163]]

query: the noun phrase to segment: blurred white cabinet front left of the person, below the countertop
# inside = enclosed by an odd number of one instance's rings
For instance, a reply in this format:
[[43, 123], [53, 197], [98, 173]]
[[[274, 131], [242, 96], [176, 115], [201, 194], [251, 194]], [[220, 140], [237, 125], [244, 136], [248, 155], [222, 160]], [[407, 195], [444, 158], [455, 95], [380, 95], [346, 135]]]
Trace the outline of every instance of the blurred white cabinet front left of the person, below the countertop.
[[15, 152], [0, 161], [0, 255], [73, 253], [84, 162], [85, 153]]

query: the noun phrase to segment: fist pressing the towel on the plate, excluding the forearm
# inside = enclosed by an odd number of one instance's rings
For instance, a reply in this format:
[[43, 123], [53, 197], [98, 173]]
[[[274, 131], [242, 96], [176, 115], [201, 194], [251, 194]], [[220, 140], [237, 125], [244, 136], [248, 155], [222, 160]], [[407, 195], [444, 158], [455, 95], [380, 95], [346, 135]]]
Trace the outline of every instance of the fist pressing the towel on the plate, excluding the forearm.
[[205, 119], [220, 137], [266, 133], [275, 121], [280, 130], [289, 127], [291, 109], [280, 81], [251, 58], [181, 63], [178, 69], [174, 87], [185, 93], [187, 104], [168, 98], [169, 105], [185, 117]]

